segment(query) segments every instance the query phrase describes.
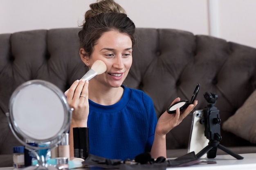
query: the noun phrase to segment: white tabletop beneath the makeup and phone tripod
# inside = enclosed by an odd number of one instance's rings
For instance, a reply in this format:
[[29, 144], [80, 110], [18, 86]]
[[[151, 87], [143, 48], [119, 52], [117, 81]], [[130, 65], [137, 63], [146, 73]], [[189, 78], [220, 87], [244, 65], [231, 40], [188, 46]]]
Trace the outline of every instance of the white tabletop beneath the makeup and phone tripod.
[[[244, 159], [238, 160], [231, 155], [217, 155], [216, 164], [200, 164], [187, 167], [167, 168], [166, 170], [256, 170], [256, 153], [239, 154]], [[94, 168], [91, 168], [94, 170]], [[0, 170], [13, 170], [13, 167], [0, 168]], [[76, 168], [74, 170], [90, 170], [90, 168]]]

